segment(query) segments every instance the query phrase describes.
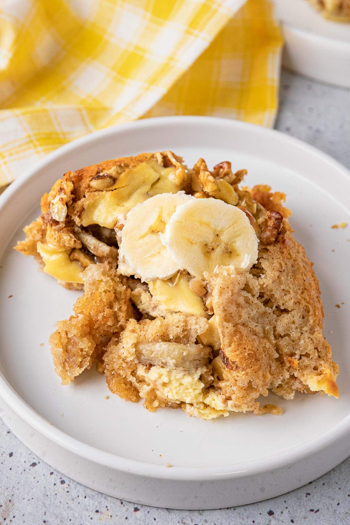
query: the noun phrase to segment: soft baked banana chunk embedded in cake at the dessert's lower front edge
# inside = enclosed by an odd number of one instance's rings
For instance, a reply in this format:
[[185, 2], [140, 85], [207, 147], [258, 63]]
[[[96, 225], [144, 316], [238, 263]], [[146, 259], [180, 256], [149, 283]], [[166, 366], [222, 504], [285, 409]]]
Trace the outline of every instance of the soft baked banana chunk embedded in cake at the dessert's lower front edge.
[[201, 344], [182, 344], [173, 342], [139, 343], [136, 355], [142, 364], [153, 364], [195, 370], [209, 362], [211, 349]]

